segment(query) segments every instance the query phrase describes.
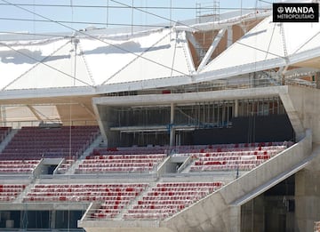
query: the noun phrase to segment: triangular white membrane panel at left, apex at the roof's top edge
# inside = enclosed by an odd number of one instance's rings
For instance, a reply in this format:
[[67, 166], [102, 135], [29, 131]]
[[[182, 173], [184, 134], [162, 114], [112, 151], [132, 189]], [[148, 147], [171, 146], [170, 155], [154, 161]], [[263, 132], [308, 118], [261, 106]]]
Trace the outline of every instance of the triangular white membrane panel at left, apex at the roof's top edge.
[[[14, 78], [12, 84], [6, 86], [6, 90], [12, 89], [37, 89], [66, 86], [92, 85], [92, 80], [85, 67], [81, 56], [76, 56], [73, 52], [73, 44], [70, 40], [63, 39], [62, 46], [48, 57], [44, 56], [42, 62], [36, 62], [28, 71]], [[56, 47], [57, 43], [50, 44]], [[45, 51], [48, 45], [38, 46], [40, 51]], [[38, 60], [38, 58], [36, 58]], [[16, 66], [17, 69], [20, 66]], [[76, 70], [76, 75], [74, 75]]]

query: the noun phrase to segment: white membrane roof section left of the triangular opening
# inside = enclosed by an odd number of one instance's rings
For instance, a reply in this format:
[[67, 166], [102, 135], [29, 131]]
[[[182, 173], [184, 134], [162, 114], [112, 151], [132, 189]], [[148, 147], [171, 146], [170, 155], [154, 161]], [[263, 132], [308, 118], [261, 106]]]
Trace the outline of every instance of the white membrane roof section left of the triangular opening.
[[[183, 32], [76, 36], [0, 44], [1, 90], [125, 84], [188, 76]], [[76, 51], [76, 56], [75, 56]]]

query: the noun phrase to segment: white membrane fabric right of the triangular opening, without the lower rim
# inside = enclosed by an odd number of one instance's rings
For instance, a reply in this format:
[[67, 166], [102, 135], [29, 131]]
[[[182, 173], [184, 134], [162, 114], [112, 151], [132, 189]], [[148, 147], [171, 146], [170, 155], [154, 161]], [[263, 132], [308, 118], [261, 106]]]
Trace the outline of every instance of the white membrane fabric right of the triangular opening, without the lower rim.
[[219, 71], [221, 74], [223, 69], [243, 70], [242, 67], [246, 70], [251, 67], [253, 72], [257, 70], [256, 65], [261, 68], [264, 63], [268, 64], [266, 68], [270, 68], [273, 60], [275, 67], [285, 64], [292, 55], [319, 48], [319, 33], [319, 23], [274, 23], [270, 16], [212, 60], [200, 73]]

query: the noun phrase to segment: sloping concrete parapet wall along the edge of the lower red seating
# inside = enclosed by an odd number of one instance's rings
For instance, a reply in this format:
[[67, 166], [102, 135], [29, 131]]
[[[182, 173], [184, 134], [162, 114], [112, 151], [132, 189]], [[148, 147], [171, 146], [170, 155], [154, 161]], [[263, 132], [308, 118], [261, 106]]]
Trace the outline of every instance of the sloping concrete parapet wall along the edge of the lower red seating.
[[240, 206], [263, 191], [272, 188], [288, 175], [305, 167], [318, 154], [317, 149], [313, 153], [311, 149], [312, 134], [311, 131], [307, 131], [305, 137], [291, 148], [285, 149], [251, 172], [244, 173], [238, 179], [174, 214], [171, 218], [165, 220], [90, 220], [84, 217], [78, 221], [78, 227], [84, 228], [87, 232], [239, 231]]

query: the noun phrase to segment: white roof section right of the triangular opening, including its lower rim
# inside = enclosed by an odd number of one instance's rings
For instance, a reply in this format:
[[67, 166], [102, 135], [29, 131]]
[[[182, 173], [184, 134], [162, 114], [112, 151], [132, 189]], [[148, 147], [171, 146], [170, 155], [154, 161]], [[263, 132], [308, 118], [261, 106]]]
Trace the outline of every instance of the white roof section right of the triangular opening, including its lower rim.
[[320, 23], [274, 23], [269, 16], [212, 60], [197, 80], [287, 66], [320, 68]]

